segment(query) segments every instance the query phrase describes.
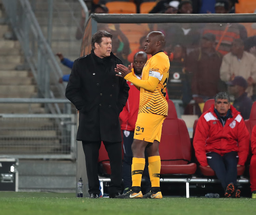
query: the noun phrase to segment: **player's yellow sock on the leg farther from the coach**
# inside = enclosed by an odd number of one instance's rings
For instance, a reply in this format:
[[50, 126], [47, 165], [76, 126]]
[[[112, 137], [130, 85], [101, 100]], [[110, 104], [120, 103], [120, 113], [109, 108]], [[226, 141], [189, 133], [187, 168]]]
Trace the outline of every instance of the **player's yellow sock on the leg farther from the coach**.
[[148, 157], [148, 173], [150, 175], [151, 187], [160, 187], [160, 156]]

